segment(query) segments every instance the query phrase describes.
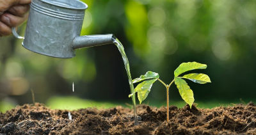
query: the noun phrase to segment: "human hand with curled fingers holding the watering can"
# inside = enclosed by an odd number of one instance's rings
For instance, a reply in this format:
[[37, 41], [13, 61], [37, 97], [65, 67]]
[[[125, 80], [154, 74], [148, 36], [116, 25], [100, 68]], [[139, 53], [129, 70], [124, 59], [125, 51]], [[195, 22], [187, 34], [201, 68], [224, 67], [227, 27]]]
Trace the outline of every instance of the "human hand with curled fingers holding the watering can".
[[12, 34], [12, 27], [28, 18], [31, 0], [0, 0], [0, 36]]

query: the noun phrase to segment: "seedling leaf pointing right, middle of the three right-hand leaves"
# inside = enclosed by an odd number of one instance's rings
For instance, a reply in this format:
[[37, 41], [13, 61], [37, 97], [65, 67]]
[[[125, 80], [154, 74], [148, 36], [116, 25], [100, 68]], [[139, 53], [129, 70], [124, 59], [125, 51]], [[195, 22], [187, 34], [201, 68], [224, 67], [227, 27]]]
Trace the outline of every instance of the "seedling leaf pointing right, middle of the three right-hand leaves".
[[211, 83], [210, 77], [206, 74], [196, 74], [196, 73], [186, 74], [182, 76], [182, 78], [186, 78], [195, 83], [200, 83], [200, 84]]

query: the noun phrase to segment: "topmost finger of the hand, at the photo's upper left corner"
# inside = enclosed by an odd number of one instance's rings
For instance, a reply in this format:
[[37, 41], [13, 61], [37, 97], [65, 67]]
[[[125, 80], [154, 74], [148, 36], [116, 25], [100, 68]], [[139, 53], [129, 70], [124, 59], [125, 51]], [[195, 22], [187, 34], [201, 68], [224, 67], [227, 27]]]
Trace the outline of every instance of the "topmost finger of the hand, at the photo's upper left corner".
[[29, 4], [31, 0], [0, 0], [0, 12], [5, 12], [9, 8], [17, 4]]

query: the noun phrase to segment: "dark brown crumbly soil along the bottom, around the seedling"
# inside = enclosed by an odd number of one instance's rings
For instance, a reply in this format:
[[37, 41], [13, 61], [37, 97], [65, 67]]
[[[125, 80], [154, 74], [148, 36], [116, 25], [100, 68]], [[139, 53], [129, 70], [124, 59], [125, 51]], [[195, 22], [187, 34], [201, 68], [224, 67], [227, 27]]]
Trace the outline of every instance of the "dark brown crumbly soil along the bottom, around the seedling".
[[132, 110], [111, 109], [52, 110], [44, 104], [17, 106], [0, 113], [0, 134], [256, 134], [256, 106], [199, 109], [138, 106], [140, 125], [134, 126]]

